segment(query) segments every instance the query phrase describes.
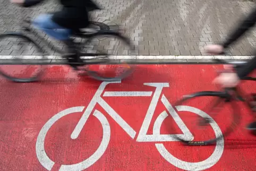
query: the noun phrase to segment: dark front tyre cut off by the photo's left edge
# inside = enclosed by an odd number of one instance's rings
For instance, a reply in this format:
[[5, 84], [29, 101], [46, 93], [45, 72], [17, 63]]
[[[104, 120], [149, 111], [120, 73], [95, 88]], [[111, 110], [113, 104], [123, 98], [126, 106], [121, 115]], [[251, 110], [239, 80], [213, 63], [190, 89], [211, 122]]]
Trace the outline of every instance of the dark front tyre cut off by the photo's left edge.
[[[16, 37], [16, 38], [22, 38], [30, 43], [32, 43], [34, 46], [36, 46], [36, 48], [43, 54], [43, 51], [42, 51], [42, 48], [37, 44], [37, 42], [35, 42], [34, 40], [30, 39], [29, 37], [23, 35], [22, 33], [20, 32], [6, 32], [4, 34], [1, 34], [0, 35], [0, 41], [1, 39], [5, 38], [5, 37]], [[13, 82], [36, 82], [40, 79], [42, 73], [43, 73], [43, 66], [40, 65], [40, 71], [35, 75], [35, 76], [32, 76], [30, 78], [15, 78], [14, 76], [10, 76], [8, 74], [6, 74], [4, 71], [1, 70], [1, 67], [0, 67], [0, 74], [2, 76], [4, 76], [4, 78], [10, 80], [10, 81], [13, 81]]]

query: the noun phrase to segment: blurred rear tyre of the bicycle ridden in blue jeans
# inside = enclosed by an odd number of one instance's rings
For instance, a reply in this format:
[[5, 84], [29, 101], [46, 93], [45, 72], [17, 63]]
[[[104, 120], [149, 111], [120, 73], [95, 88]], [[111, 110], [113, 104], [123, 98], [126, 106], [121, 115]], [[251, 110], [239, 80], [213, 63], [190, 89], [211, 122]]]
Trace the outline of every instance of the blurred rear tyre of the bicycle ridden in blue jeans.
[[[97, 37], [111, 37], [111, 38], [115, 38], [118, 39], [120, 41], [122, 41], [127, 47], [129, 47], [129, 50], [132, 51], [134, 50], [134, 48], [131, 46], [130, 44], [130, 40], [127, 39], [126, 37], [120, 35], [120, 33], [118, 32], [114, 32], [114, 31], [110, 31], [110, 30], [104, 30], [104, 31], [98, 31], [95, 34], [92, 34], [89, 39], [87, 40], [87, 44], [88, 42], [90, 42], [93, 38], [97, 38]], [[99, 65], [110, 65], [113, 64], [111, 63], [113, 61], [113, 59], [108, 58], [109, 54], [107, 53], [101, 53], [100, 51], [97, 52], [96, 54], [92, 54], [92, 53], [82, 53], [80, 56], [95, 56], [95, 58], [93, 59], [87, 59], [86, 60], [86, 65], [95, 65], [95, 64], [99, 64]], [[99, 72], [97, 71], [92, 71], [92, 70], [86, 70], [87, 75], [89, 75], [91, 78], [99, 80], [99, 81], [120, 81], [124, 78], [127, 78], [127, 76], [131, 75], [135, 69], [134, 65], [126, 63], [126, 62], [120, 62], [118, 64], [115, 65], [125, 65], [126, 70], [125, 72], [123, 72], [120, 75], [117, 76], [101, 76], [99, 74]]]

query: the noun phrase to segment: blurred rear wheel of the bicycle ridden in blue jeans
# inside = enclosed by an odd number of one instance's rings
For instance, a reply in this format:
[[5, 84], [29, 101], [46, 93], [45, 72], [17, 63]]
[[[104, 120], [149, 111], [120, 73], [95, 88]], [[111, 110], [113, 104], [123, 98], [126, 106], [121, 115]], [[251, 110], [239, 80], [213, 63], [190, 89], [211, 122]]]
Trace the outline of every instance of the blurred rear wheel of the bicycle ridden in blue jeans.
[[[87, 74], [100, 81], [119, 81], [134, 71], [130, 63], [116, 60], [116, 55], [128, 55], [134, 47], [119, 33], [99, 31], [87, 40], [87, 47], [82, 49], [82, 59], [86, 59]], [[85, 50], [85, 51], [84, 51]]]

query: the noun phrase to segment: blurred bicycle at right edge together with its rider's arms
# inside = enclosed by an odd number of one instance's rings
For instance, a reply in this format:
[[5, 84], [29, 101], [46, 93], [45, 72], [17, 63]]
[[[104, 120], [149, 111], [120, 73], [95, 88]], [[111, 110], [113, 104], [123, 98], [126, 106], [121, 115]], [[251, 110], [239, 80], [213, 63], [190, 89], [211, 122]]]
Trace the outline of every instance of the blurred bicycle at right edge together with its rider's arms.
[[[238, 38], [240, 38], [246, 31], [248, 31], [250, 28], [252, 28], [255, 25], [256, 22], [256, 7], [253, 8], [251, 13], [245, 18], [238, 27], [231, 33], [231, 35], [227, 38], [227, 41], [224, 42], [222, 45], [209, 45], [206, 47], [206, 51], [208, 54], [212, 55], [218, 55], [218, 54], [225, 54], [225, 49], [228, 48], [234, 41], [236, 41]], [[237, 127], [238, 124], [240, 124], [240, 108], [237, 106], [236, 101], [245, 101], [246, 105], [249, 106], [251, 109], [251, 112], [253, 115], [255, 115], [255, 108], [256, 108], [256, 96], [254, 93], [252, 93], [249, 97], [244, 96], [243, 91], [241, 90], [240, 82], [241, 80], [250, 80], [250, 81], [256, 81], [256, 78], [252, 78], [248, 76], [256, 67], [256, 57], [254, 56], [250, 61], [248, 62], [226, 62], [220, 59], [217, 59], [218, 62], [224, 63], [225, 70], [221, 71], [220, 74], [217, 76], [217, 78], [214, 80], [214, 83], [220, 84], [220, 86], [224, 89], [223, 91], [200, 91], [195, 92], [190, 95], [183, 96], [182, 99], [178, 100], [175, 104], [175, 106], [180, 105], [191, 105], [193, 101], [199, 102], [198, 99], [210, 99], [211, 103], [207, 105], [203, 105], [203, 107], [206, 107], [208, 111], [206, 112], [204, 109], [204, 112], [202, 114], [201, 118], [196, 118], [194, 121], [193, 119], [189, 117], [187, 118], [191, 122], [191, 127], [194, 129], [200, 131], [192, 131], [190, 130], [190, 133], [195, 132], [202, 132], [203, 135], [197, 136], [194, 135], [192, 138], [183, 138], [181, 136], [176, 136], [175, 138], [177, 140], [180, 140], [181, 142], [188, 144], [188, 145], [195, 145], [195, 146], [203, 146], [208, 145], [212, 143], [216, 143], [218, 140], [222, 139], [223, 136], [227, 136], [228, 134], [232, 133]], [[225, 113], [221, 112], [223, 110], [225, 105], [225, 108], [228, 108], [225, 110]], [[228, 115], [227, 113], [231, 113], [231, 115]], [[210, 117], [204, 115], [207, 113]], [[226, 128], [223, 129], [223, 134], [219, 134], [216, 136], [210, 136], [209, 132], [202, 131], [205, 129], [205, 127], [212, 125], [212, 123], [215, 123], [215, 119], [213, 117], [216, 117], [217, 119], [225, 119], [225, 126]], [[255, 116], [253, 116], [253, 119], [255, 119]], [[229, 121], [230, 120], [230, 121]], [[246, 129], [252, 130], [253, 132], [256, 130], [256, 121], [254, 120], [248, 126], [246, 126]], [[186, 133], [185, 133], [186, 134]]]

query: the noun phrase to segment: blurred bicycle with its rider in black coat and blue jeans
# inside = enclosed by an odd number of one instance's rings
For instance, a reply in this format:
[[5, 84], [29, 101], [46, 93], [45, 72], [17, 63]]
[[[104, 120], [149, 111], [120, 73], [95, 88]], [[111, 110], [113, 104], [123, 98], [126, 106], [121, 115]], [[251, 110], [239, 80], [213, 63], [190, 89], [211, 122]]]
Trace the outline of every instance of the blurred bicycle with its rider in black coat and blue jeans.
[[[39, 4], [41, 0], [11, 0], [11, 2], [20, 4], [22, 7], [30, 7]], [[41, 42], [38, 42], [38, 40], [44, 40], [44, 38], [40, 37], [36, 31], [33, 30], [33, 28], [37, 28], [47, 33], [50, 37], [64, 42], [68, 47], [66, 53], [64, 53], [63, 49], [58, 49], [56, 46], [52, 46], [49, 42], [47, 43], [47, 47], [48, 49], [53, 49], [59, 54], [62, 54], [62, 57], [67, 59], [65, 64], [72, 66], [75, 71], [82, 71], [100, 81], [118, 81], [130, 75], [133, 71], [133, 67], [127, 63], [118, 63], [118, 65], [115, 65], [117, 70], [114, 71], [114, 66], [100, 66], [109, 64], [111, 60], [113, 60], [110, 55], [124, 55], [124, 53], [128, 52], [132, 53], [134, 48], [130, 45], [130, 40], [128, 38], [122, 36], [121, 33], [116, 30], [99, 30], [96, 32], [81, 31], [81, 29], [88, 28], [91, 23], [88, 19], [88, 12], [100, 10], [100, 8], [91, 1], [61, 0], [60, 2], [63, 6], [61, 11], [51, 14], [41, 14], [37, 16], [35, 20], [24, 19], [24, 23], [33, 26], [23, 26], [23, 30], [26, 33], [5, 32], [0, 35], [0, 41], [14, 38], [20, 41], [18, 46], [32, 46], [39, 54], [37, 59], [40, 59], [41, 63], [36, 63], [37, 65], [40, 65], [39, 69], [35, 66], [36, 64], [31, 66], [31, 62], [28, 67], [27, 65], [24, 65], [24, 60], [21, 62], [20, 59], [12, 59], [12, 62], [1, 63], [0, 74], [15, 82], [32, 82], [37, 81], [40, 78], [43, 68], [41, 66], [42, 63], [48, 65], [49, 62], [45, 62], [47, 60], [42, 60], [48, 58], [44, 48], [41, 46]], [[32, 34], [37, 40], [33, 40], [27, 36], [27, 33]], [[72, 37], [82, 39], [82, 41], [74, 42]], [[101, 46], [101, 40], [105, 41], [103, 42], [103, 47]], [[95, 48], [94, 45], [99, 48]], [[107, 45], [111, 48], [107, 48]], [[88, 49], [89, 46], [93, 46], [93, 49]], [[83, 50], [85, 51], [83, 52]], [[16, 66], [13, 67], [10, 65]], [[112, 70], [109, 71], [107, 68], [111, 68]], [[21, 69], [22, 72], [13, 71], [18, 69]]]

